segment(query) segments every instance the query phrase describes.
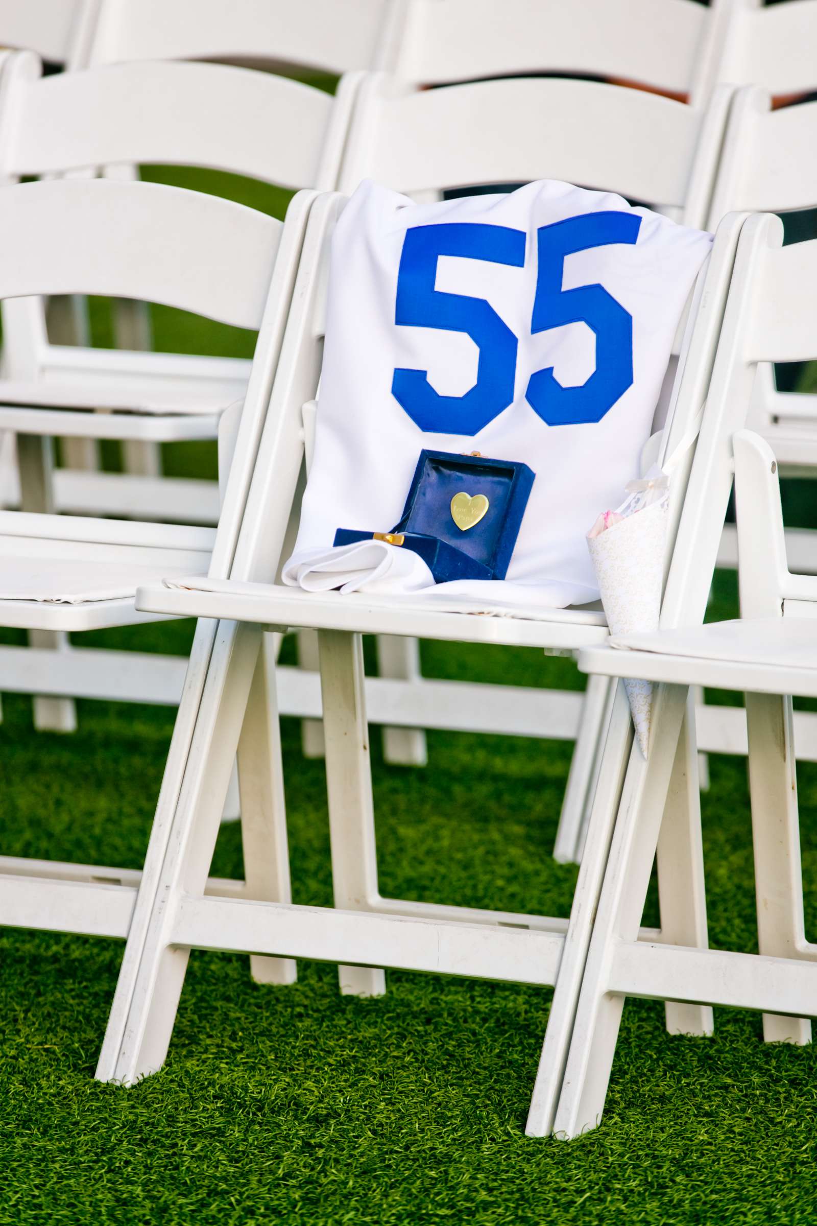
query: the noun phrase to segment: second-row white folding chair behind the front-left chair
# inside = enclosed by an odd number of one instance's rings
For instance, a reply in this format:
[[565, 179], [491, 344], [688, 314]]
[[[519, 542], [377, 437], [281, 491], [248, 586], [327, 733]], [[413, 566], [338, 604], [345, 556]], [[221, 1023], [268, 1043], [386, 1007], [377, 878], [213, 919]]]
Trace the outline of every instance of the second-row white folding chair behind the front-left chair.
[[[142, 159], [208, 164], [287, 186], [332, 186], [354, 88], [355, 78], [347, 77], [331, 97], [283, 77], [214, 64], [138, 63], [42, 78], [32, 53], [11, 53], [0, 61], [0, 175], [9, 183]], [[273, 121], [280, 113], [288, 124]], [[42, 298], [4, 303], [2, 320], [0, 430], [17, 435], [27, 511], [54, 506], [53, 436], [212, 439], [222, 412], [246, 389], [249, 362], [54, 345]], [[100, 408], [105, 412], [93, 412]], [[109, 512], [179, 520], [187, 511], [202, 522], [196, 501], [203, 483], [102, 472], [58, 476], [96, 483]], [[203, 521], [217, 521], [218, 497], [206, 501]], [[44, 693], [51, 696], [34, 702], [38, 727], [75, 727], [72, 696], [130, 696], [130, 653], [71, 658], [65, 636], [44, 630], [32, 631], [32, 645], [34, 656], [0, 649], [0, 677], [4, 689], [24, 693], [37, 693], [38, 680], [47, 680]], [[49, 652], [49, 646], [62, 650]], [[183, 679], [181, 661], [156, 656], [142, 662], [134, 693], [140, 701], [178, 702]], [[309, 704], [304, 709], [295, 700], [295, 710], [304, 714]]]

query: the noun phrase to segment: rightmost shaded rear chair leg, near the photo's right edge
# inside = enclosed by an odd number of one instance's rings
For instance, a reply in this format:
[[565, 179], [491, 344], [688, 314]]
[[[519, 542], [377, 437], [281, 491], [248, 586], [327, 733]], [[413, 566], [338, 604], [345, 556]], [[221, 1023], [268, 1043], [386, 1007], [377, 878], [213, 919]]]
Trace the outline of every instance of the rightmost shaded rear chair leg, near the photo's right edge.
[[[747, 694], [755, 891], [761, 954], [802, 958], [806, 944], [790, 698]], [[763, 1014], [767, 1043], [807, 1043], [811, 1021]]]

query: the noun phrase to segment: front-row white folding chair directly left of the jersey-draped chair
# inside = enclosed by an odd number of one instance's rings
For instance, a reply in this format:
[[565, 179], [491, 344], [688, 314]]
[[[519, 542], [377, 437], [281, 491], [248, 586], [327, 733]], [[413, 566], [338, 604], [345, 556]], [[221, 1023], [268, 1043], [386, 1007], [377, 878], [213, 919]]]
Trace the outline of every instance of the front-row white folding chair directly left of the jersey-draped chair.
[[[191, 565], [228, 573], [312, 200], [311, 192], [298, 194], [282, 224], [230, 201], [156, 184], [54, 180], [0, 191], [0, 298], [121, 294], [258, 331], [238, 433], [236, 414], [224, 414], [223, 450], [234, 454], [218, 531], [0, 512], [0, 624], [65, 633], [156, 620], [134, 608], [135, 587], [147, 575]], [[195, 715], [212, 630], [202, 623], [195, 638], [181, 722]], [[91, 655], [77, 653], [77, 672]], [[279, 786], [267, 756], [278, 736], [266, 702], [273, 668], [266, 653], [261, 660], [239, 764], [247, 883], [211, 889], [288, 899], [285, 843], [269, 835]], [[131, 683], [140, 663], [132, 658]], [[175, 804], [174, 780], [184, 765], [171, 754], [159, 810]], [[0, 857], [0, 923], [125, 937], [138, 877]], [[273, 982], [293, 975], [292, 966], [273, 961], [258, 961], [254, 971]]]

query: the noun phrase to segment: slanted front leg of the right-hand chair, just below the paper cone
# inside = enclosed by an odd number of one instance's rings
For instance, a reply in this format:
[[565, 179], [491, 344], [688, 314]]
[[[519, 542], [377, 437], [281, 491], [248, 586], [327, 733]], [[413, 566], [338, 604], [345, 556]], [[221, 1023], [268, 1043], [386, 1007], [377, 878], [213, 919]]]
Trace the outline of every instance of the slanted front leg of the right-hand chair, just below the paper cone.
[[687, 752], [679, 739], [687, 693], [658, 687], [649, 758], [638, 748], [630, 756], [554, 1123], [565, 1139], [601, 1119], [623, 1008], [609, 991], [610, 971], [619, 944], [638, 938], [676, 752]]

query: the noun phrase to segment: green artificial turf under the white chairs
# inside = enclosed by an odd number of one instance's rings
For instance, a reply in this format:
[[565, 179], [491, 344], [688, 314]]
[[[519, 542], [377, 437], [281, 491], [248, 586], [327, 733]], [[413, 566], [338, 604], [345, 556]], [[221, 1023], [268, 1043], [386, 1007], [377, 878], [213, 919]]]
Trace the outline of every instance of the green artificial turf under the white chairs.
[[[104, 333], [102, 308], [96, 322]], [[251, 352], [178, 313], [154, 322], [159, 347]], [[174, 472], [212, 462], [212, 449], [165, 450]], [[788, 499], [810, 522], [812, 492]], [[715, 595], [710, 615], [729, 615], [734, 577]], [[190, 635], [170, 623], [83, 645], [184, 652]], [[429, 676], [582, 684], [571, 662], [534, 651], [424, 644], [423, 658]], [[140, 867], [171, 727], [170, 710], [81, 702], [76, 734], [34, 733], [29, 701], [6, 698], [2, 852]], [[303, 758], [295, 721], [283, 734], [294, 897], [328, 904], [323, 766]], [[567, 915], [576, 869], [550, 857], [567, 743], [431, 733], [425, 770], [374, 748], [385, 893]], [[745, 761], [710, 770], [710, 942], [753, 950]], [[813, 932], [813, 766], [800, 798]], [[235, 825], [214, 872], [241, 873]], [[654, 897], [648, 912], [657, 922]], [[194, 953], [167, 1065], [125, 1090], [93, 1080], [121, 945], [2, 929], [0, 949], [0, 1226], [817, 1220], [817, 1053], [763, 1045], [755, 1014], [718, 1009], [714, 1037], [670, 1038], [660, 1004], [628, 1002], [601, 1127], [532, 1140], [549, 991], [394, 972], [385, 998], [356, 1000], [331, 966], [301, 964], [294, 987], [271, 988], [244, 958]]]

